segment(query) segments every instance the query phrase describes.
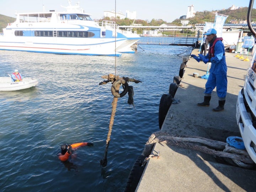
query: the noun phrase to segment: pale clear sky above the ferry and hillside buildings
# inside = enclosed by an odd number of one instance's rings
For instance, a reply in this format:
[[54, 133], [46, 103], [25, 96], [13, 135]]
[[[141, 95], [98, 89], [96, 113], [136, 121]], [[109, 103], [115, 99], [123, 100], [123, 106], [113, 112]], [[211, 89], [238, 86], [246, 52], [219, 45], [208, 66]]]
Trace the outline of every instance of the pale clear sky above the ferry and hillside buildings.
[[[232, 5], [248, 7], [250, 0], [71, 0], [71, 5], [79, 5], [86, 13], [91, 14], [92, 19], [100, 19], [104, 11], [116, 10], [126, 13], [126, 10], [136, 11], [137, 18], [151, 21], [162, 19], [172, 22], [182, 15], [186, 15], [188, 6], [193, 5], [194, 11], [212, 11], [228, 9]], [[62, 6], [68, 6], [68, 0], [0, 0], [0, 14], [15, 17], [15, 11], [42, 12], [43, 5], [46, 11], [65, 11]], [[256, 9], [256, 3], [253, 8]]]

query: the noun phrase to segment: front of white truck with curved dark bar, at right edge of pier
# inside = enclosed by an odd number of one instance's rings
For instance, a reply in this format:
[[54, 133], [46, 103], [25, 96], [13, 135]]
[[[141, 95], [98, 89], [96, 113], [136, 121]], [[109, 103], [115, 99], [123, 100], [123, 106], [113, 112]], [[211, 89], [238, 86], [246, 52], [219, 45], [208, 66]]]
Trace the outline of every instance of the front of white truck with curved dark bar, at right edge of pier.
[[[247, 24], [254, 38], [256, 32], [251, 25], [251, 11], [254, 0], [250, 0]], [[236, 120], [251, 159], [256, 163], [256, 45], [252, 49], [252, 60], [247, 69], [244, 88], [239, 91], [236, 103]]]

